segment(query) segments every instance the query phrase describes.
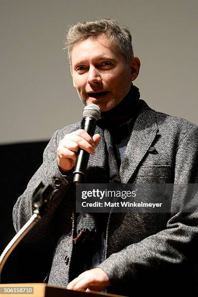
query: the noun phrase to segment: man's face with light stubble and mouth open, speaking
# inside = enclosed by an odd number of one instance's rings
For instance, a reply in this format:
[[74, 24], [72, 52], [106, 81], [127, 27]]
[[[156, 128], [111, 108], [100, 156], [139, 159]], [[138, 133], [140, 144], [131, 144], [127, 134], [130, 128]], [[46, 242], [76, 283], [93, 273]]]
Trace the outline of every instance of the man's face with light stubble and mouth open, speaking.
[[[139, 71], [139, 70], [138, 70]], [[132, 63], [101, 34], [76, 43], [71, 55], [73, 85], [85, 105], [94, 103], [101, 111], [116, 106], [130, 90]]]

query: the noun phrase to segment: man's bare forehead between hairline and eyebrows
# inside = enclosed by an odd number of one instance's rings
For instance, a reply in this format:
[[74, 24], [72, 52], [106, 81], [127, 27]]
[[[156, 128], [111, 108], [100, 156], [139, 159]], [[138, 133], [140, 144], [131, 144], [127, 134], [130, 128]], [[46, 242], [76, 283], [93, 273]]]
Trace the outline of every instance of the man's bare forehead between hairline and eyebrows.
[[102, 59], [109, 57], [118, 59], [122, 54], [115, 46], [110, 44], [108, 37], [105, 34], [94, 36], [77, 42], [71, 53], [71, 62]]

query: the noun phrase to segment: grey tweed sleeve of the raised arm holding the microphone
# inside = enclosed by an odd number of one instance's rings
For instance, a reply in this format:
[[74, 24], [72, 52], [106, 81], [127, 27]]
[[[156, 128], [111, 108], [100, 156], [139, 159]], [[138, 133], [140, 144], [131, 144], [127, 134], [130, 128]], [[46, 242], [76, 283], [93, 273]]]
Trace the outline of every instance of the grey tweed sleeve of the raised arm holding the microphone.
[[[27, 241], [37, 241], [50, 236], [54, 231], [54, 215], [72, 183], [72, 176], [62, 175], [57, 163], [56, 149], [59, 142], [59, 131], [54, 132], [52, 139], [44, 150], [43, 163], [29, 181], [26, 190], [18, 198], [13, 209], [13, 222], [18, 232], [32, 216], [32, 195], [38, 184], [53, 184], [54, 191], [48, 202], [48, 209], [42, 220], [25, 236]], [[56, 186], [57, 184], [57, 186]]]

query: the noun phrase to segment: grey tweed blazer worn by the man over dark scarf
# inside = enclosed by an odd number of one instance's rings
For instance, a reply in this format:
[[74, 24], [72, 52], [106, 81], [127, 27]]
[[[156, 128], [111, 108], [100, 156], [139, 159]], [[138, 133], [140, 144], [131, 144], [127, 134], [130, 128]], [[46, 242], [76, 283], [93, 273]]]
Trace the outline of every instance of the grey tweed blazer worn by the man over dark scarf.
[[[58, 286], [67, 286], [70, 281], [75, 190], [72, 176], [64, 176], [59, 171], [56, 149], [66, 133], [79, 128], [80, 122], [54, 133], [44, 151], [43, 164], [13, 210], [15, 229], [19, 231], [32, 214], [31, 197], [37, 185], [40, 181], [54, 183], [48, 212], [29, 232], [26, 240], [39, 241], [56, 234], [49, 283]], [[151, 146], [156, 148], [156, 154], [148, 151]], [[95, 155], [90, 156], [90, 164], [97, 165], [103, 153], [104, 148], [99, 144]], [[197, 183], [198, 126], [155, 112], [143, 102], [120, 167], [120, 178], [122, 183]], [[174, 203], [180, 205], [180, 198], [173, 193]], [[130, 296], [134, 292], [148, 293], [150, 290], [153, 293], [161, 288], [168, 293], [172, 286], [172, 293], [186, 290], [192, 296], [198, 278], [197, 255], [197, 212], [111, 213], [108, 217], [106, 260], [99, 267], [111, 281], [108, 292]]]

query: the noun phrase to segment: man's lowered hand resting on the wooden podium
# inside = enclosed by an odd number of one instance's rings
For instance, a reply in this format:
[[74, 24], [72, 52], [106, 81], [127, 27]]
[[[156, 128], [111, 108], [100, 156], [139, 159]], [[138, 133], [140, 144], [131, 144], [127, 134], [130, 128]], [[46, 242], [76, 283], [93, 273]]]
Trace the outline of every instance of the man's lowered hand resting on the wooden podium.
[[110, 281], [107, 274], [100, 268], [94, 268], [81, 273], [68, 284], [67, 289], [78, 291], [87, 288], [86, 292], [100, 292], [108, 286]]

